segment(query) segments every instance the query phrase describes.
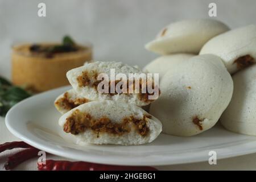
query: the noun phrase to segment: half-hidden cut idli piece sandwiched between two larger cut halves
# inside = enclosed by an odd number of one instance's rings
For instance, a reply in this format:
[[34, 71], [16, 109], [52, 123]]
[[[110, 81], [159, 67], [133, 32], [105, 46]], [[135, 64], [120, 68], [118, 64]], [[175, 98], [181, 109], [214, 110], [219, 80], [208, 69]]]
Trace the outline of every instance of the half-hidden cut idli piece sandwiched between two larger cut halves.
[[81, 105], [90, 100], [80, 96], [74, 89], [70, 89], [67, 92], [58, 96], [54, 102], [56, 109], [61, 113], [67, 113], [67, 111]]

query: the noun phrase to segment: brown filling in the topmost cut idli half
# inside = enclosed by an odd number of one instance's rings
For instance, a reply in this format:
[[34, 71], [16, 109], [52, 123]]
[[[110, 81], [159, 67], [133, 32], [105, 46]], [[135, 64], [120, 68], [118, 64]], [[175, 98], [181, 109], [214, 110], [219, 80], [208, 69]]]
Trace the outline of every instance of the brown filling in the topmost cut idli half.
[[[98, 77], [98, 73], [96, 73], [96, 72], [89, 73], [87, 71], [84, 71], [84, 72], [82, 72], [82, 75], [77, 77], [77, 82], [80, 87], [90, 86], [90, 87], [93, 87], [95, 90], [97, 90], [98, 84], [100, 84], [100, 82], [101, 82], [101, 81], [97, 80], [97, 77]], [[91, 78], [94, 78], [94, 79], [92, 80]], [[115, 80], [115, 85], [117, 85], [119, 81], [121, 81], [121, 80]], [[147, 85], [147, 82], [145, 85]], [[129, 81], [127, 81], [126, 86], [127, 86], [126, 90], [127, 90], [127, 92], [129, 92]], [[135, 88], [135, 81], [133, 81], [133, 86]], [[102, 88], [102, 89], [104, 89], [104, 88]], [[121, 88], [121, 89], [123, 89], [123, 88]], [[154, 84], [152, 84], [152, 89], [154, 89]], [[111, 90], [110, 90], [110, 81], [109, 81], [109, 93], [108, 94], [110, 94], [110, 96], [114, 96], [115, 94], [118, 94], [116, 92], [116, 90], [115, 90], [115, 93], [111, 93], [110, 91]], [[123, 94], [129, 94], [129, 93], [123, 93]], [[146, 88], [146, 93], [142, 93], [142, 81], [140, 80], [140, 82], [139, 82], [139, 100], [144, 101], [144, 102], [149, 102], [150, 100], [148, 100], [148, 96], [150, 96], [150, 95], [151, 96], [154, 95], [154, 92], [148, 93], [147, 88]], [[159, 95], [160, 95], [160, 90], [159, 90]]]

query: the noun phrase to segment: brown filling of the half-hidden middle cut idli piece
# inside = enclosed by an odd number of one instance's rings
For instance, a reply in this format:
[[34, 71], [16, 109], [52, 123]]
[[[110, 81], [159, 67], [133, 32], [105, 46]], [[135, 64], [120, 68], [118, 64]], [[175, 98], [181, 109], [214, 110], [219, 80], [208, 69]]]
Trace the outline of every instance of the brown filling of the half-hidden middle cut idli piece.
[[85, 104], [89, 102], [86, 98], [76, 98], [75, 100], [71, 100], [68, 98], [68, 92], [64, 93], [64, 96], [55, 102], [56, 105], [59, 105], [61, 108], [66, 110], [71, 110], [81, 104]]

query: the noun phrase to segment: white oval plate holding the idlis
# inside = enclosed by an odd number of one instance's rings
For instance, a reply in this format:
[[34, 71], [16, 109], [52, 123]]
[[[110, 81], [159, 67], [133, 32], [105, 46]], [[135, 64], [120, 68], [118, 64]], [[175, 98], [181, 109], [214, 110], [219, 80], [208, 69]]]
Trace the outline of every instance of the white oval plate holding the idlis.
[[201, 162], [209, 151], [217, 159], [256, 152], [256, 137], [231, 133], [217, 125], [194, 137], [161, 134], [154, 142], [141, 146], [77, 146], [60, 137], [60, 113], [53, 106], [59, 94], [70, 87], [44, 92], [15, 105], [6, 115], [6, 126], [16, 137], [51, 154], [86, 162], [158, 166]]

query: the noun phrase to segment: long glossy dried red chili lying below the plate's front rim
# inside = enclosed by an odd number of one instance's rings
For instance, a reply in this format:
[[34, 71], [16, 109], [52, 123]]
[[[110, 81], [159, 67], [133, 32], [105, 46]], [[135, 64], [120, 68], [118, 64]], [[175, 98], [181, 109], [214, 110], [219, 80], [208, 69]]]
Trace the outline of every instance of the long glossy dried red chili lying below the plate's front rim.
[[66, 160], [46, 160], [38, 163], [39, 171], [157, 171], [147, 166], [113, 166], [88, 162], [69, 162]]

